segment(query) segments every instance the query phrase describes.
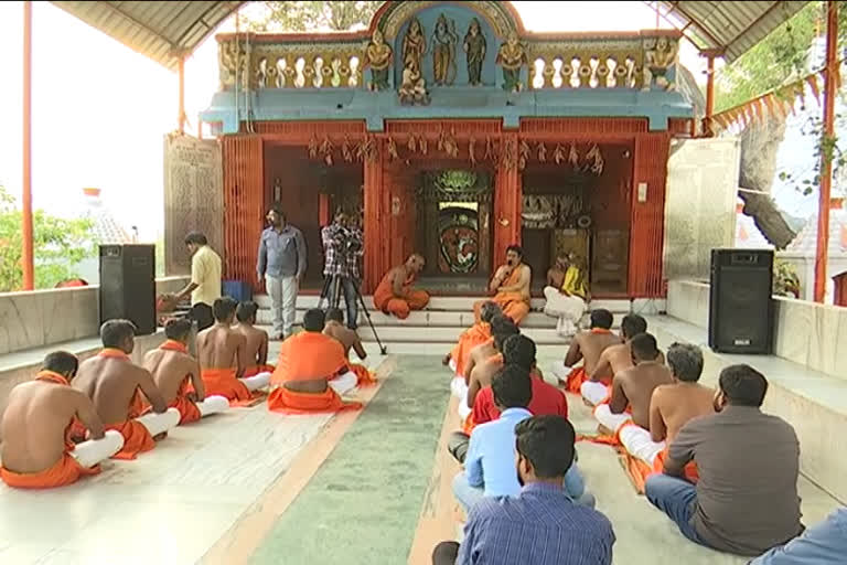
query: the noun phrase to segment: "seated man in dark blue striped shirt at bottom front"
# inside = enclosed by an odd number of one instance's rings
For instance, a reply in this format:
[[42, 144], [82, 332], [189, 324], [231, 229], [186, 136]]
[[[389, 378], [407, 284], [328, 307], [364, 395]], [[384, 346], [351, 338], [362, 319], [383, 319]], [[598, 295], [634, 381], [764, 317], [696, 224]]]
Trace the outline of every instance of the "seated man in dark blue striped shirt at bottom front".
[[440, 543], [433, 565], [611, 565], [611, 522], [562, 488], [573, 426], [561, 416], [534, 416], [517, 424], [515, 437], [521, 494], [478, 502], [461, 546]]

